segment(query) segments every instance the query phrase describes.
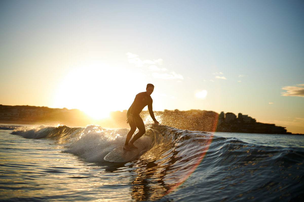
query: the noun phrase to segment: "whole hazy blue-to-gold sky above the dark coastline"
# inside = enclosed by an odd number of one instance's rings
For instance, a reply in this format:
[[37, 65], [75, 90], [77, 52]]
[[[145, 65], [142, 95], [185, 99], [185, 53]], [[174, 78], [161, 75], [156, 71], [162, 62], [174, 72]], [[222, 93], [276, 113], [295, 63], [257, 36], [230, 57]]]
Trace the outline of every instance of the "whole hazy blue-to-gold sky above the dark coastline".
[[242, 113], [304, 133], [304, 1], [0, 1], [0, 104]]

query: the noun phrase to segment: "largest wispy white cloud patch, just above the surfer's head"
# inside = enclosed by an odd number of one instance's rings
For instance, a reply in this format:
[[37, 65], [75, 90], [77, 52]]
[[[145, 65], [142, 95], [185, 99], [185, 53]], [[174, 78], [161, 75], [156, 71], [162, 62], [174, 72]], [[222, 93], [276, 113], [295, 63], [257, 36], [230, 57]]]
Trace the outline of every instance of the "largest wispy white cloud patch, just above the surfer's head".
[[[126, 53], [128, 56], [128, 61], [130, 64], [134, 64], [136, 67], [143, 67], [150, 71], [167, 71], [166, 68], [160, 68], [162, 65], [163, 59], [159, 58], [157, 60], [141, 60], [138, 55], [133, 53]], [[180, 74], [175, 73], [174, 71], [170, 73], [152, 73], [154, 78], [159, 79], [184, 79], [184, 77]]]

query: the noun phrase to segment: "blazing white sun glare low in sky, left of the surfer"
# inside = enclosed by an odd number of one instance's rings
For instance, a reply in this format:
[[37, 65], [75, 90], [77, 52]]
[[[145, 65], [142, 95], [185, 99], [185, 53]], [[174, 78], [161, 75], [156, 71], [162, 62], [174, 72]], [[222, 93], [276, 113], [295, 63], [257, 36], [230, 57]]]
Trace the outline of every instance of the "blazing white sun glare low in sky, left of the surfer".
[[58, 85], [54, 106], [79, 109], [94, 119], [108, 118], [111, 111], [123, 110], [121, 91], [125, 86], [118, 68], [104, 64], [86, 64], [70, 71]]

